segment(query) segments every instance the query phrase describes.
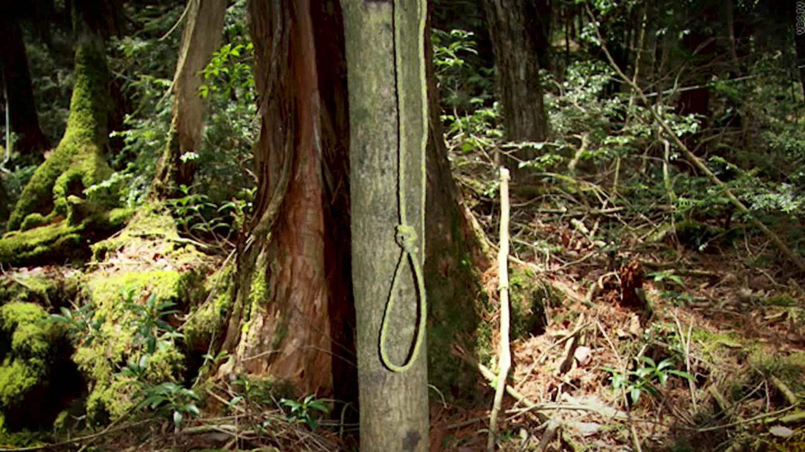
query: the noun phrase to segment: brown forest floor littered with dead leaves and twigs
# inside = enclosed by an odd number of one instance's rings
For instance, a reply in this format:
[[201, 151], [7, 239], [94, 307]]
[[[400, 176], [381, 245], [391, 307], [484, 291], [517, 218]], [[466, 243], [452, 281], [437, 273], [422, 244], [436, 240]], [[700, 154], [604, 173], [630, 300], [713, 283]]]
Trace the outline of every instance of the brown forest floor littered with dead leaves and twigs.
[[[703, 252], [674, 234], [646, 240], [658, 222], [642, 216], [634, 226], [606, 205], [573, 210], [516, 195], [513, 203], [512, 286], [531, 278], [546, 296], [537, 297], [542, 321], [511, 343], [516, 397], [504, 398], [501, 450], [803, 450], [805, 296], [793, 270], [769, 258], [764, 237]], [[496, 241], [497, 203], [470, 204]], [[618, 222], [628, 226], [606, 248], [597, 225]], [[748, 264], [762, 257], [767, 265]], [[496, 273], [481, 275], [487, 294], [496, 293]], [[529, 297], [513, 303], [535, 310]], [[496, 308], [484, 317], [497, 325]], [[431, 450], [485, 450], [493, 391], [479, 389], [473, 397], [489, 406], [432, 393]], [[353, 450], [356, 425], [322, 420], [312, 433], [276, 401], [273, 411], [228, 411], [237, 397], [229, 384], [205, 390], [206, 414], [179, 434], [167, 421], [123, 423], [62, 450]]]

